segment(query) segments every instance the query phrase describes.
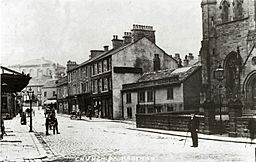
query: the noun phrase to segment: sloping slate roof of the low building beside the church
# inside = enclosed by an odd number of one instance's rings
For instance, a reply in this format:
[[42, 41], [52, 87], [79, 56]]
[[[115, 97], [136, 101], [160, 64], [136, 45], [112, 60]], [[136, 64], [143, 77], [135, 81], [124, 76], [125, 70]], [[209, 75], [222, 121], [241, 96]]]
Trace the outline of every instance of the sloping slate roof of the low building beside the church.
[[138, 79], [137, 82], [161, 80], [161, 79], [171, 78], [175, 76], [178, 76], [179, 78], [178, 81], [184, 81], [200, 67], [201, 67], [200, 65], [197, 65], [197, 66], [188, 66], [188, 67], [181, 67], [177, 69], [166, 69], [166, 70], [159, 70], [156, 72], [144, 73], [141, 76], [141, 78]]

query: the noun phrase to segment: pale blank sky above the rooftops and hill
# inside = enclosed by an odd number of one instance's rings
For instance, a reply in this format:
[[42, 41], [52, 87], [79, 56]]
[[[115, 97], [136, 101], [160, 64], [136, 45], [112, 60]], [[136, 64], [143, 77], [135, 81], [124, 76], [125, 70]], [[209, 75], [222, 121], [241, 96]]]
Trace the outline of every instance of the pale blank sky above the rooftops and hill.
[[112, 47], [133, 24], [153, 26], [156, 44], [170, 55], [198, 56], [201, 0], [0, 0], [0, 64], [44, 57], [66, 65]]

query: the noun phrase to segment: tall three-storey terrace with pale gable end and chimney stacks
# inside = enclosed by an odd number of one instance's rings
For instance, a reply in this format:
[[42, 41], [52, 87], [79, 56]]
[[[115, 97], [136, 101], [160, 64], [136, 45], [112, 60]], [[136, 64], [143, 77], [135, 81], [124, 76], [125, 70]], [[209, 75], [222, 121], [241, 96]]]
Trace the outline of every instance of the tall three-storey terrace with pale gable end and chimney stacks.
[[155, 44], [152, 26], [133, 25], [123, 39], [113, 36], [112, 49], [91, 50], [90, 59], [77, 65], [67, 63], [69, 107], [96, 115], [117, 119], [122, 117], [121, 89], [135, 82], [144, 72], [153, 71], [153, 60], [158, 54], [161, 69], [177, 68], [177, 61]]

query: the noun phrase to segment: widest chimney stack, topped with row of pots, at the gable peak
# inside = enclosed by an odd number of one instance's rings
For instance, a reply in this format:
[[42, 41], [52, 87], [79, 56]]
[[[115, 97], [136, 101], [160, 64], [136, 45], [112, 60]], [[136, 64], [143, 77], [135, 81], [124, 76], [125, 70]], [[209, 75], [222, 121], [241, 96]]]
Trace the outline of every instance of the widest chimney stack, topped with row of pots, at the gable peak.
[[143, 37], [146, 37], [151, 42], [156, 43], [155, 31], [153, 30], [153, 26], [134, 24], [132, 29], [132, 41], [135, 42]]

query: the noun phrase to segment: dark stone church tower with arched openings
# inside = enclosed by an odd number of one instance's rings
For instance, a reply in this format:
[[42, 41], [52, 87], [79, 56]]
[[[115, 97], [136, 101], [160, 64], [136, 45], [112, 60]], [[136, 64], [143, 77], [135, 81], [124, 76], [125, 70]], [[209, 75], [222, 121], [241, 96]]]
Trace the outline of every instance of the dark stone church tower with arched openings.
[[[256, 113], [256, 1], [202, 0], [201, 8], [201, 103], [222, 103], [225, 109], [236, 102], [242, 114]], [[221, 82], [214, 76], [220, 65]]]

